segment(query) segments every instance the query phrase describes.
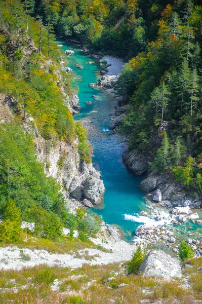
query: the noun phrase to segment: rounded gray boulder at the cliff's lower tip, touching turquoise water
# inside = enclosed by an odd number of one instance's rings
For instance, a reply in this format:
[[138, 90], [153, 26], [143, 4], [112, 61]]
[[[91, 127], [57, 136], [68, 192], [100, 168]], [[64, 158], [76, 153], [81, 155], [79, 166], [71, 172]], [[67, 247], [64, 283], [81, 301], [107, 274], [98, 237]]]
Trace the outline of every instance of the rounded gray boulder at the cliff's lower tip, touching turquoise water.
[[92, 204], [98, 205], [101, 203], [104, 192], [105, 187], [101, 179], [94, 176], [87, 177], [84, 185], [84, 196], [86, 199]]

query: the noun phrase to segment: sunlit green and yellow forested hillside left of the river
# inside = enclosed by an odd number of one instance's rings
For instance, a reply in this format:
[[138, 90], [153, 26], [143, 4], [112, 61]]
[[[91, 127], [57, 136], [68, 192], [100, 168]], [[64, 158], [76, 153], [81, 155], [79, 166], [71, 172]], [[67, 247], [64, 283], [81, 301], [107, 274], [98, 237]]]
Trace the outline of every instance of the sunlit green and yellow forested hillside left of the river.
[[[55, 240], [62, 237], [62, 227], [72, 237], [80, 225], [80, 238], [87, 240], [85, 214], [69, 213], [63, 195], [68, 196], [68, 186], [48, 171], [47, 156], [59, 148], [55, 170], [63, 170], [71, 155], [72, 166], [91, 165], [86, 131], [68, 108], [75, 89], [63, 71], [52, 26], [31, 17], [29, 1], [1, 1], [0, 11], [0, 242], [19, 242], [22, 220], [35, 223], [36, 236]], [[71, 182], [74, 176], [65, 172]], [[97, 230], [94, 217], [89, 220]]]

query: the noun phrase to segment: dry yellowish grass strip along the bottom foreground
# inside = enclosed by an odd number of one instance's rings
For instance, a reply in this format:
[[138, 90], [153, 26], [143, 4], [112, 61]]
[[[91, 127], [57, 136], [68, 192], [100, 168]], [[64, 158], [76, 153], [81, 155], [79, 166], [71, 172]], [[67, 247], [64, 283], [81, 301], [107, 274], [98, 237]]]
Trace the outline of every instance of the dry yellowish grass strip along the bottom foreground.
[[[192, 285], [188, 289], [182, 288], [181, 280], [127, 276], [120, 263], [84, 264], [75, 270], [39, 265], [20, 272], [1, 271], [0, 303], [111, 304], [114, 300], [116, 304], [141, 304], [142, 300], [152, 303], [160, 299], [162, 304], [191, 304], [194, 299], [202, 299], [202, 258], [187, 263], [192, 265], [184, 269]], [[56, 291], [51, 288], [53, 279], [59, 281]], [[119, 287], [123, 283], [126, 285]]]

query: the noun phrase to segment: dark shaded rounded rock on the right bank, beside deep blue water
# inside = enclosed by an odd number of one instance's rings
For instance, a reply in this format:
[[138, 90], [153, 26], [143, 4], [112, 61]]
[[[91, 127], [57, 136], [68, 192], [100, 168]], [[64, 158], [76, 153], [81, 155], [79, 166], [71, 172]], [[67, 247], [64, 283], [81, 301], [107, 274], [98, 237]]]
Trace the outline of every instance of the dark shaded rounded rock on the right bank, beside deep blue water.
[[149, 169], [149, 157], [138, 150], [127, 150], [123, 155], [125, 165], [136, 175], [142, 175]]

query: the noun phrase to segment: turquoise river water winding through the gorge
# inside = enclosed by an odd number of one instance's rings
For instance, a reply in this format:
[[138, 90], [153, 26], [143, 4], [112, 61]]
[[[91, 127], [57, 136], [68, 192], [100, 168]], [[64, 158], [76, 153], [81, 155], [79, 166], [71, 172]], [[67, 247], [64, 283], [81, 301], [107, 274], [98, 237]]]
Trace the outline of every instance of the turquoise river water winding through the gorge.
[[[116, 100], [112, 94], [89, 86], [89, 83], [96, 83], [101, 77], [96, 59], [87, 56], [75, 44], [62, 40], [57, 43], [63, 45], [61, 47], [63, 51], [69, 49], [74, 51], [74, 55], [69, 56], [65, 63], [65, 66], [73, 70], [73, 85], [78, 89], [80, 109], [74, 119], [82, 119], [84, 125], [85, 122], [88, 122], [88, 125], [90, 122], [89, 141], [94, 150], [93, 165], [100, 170], [106, 188], [103, 204], [94, 211], [102, 216], [106, 223], [120, 226], [126, 240], [132, 241], [136, 228], [141, 223], [151, 220], [145, 216], [139, 217], [137, 214], [142, 210], [149, 210], [151, 205], [146, 205], [143, 200], [144, 193], [138, 187], [142, 177], [132, 174], [122, 161], [127, 145], [123, 138], [110, 132], [109, 127], [112, 124], [110, 114], [114, 112]], [[84, 69], [77, 68], [76, 64], [83, 65]], [[92, 97], [93, 95], [96, 99]], [[92, 104], [87, 104], [87, 101], [92, 101]], [[199, 215], [201, 218], [201, 213]], [[169, 227], [170, 230], [174, 230], [175, 235], [178, 235], [179, 240], [188, 238], [193, 231], [195, 238], [200, 238], [199, 228], [200, 226], [194, 221]]]

